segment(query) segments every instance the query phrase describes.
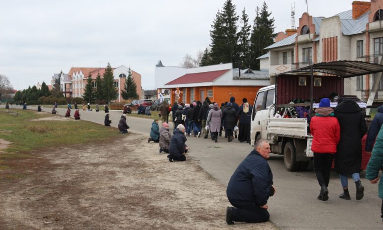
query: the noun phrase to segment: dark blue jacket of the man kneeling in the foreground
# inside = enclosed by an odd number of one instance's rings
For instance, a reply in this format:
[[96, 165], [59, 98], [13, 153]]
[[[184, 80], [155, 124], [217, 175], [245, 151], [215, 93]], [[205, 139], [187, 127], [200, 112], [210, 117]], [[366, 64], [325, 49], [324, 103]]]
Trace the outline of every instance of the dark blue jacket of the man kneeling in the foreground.
[[227, 185], [229, 201], [237, 204], [267, 204], [273, 184], [273, 173], [267, 161], [253, 150], [237, 167]]

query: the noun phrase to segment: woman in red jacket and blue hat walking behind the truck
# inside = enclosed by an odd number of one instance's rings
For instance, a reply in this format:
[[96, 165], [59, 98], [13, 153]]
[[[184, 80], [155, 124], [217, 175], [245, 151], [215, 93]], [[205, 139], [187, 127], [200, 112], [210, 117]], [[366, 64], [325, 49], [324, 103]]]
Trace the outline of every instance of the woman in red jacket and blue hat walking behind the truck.
[[314, 152], [314, 171], [321, 186], [318, 199], [327, 201], [331, 164], [340, 139], [339, 122], [334, 117], [334, 110], [330, 108], [328, 98], [323, 98], [319, 108], [315, 110], [315, 116], [310, 122], [310, 131], [313, 136], [311, 150]]

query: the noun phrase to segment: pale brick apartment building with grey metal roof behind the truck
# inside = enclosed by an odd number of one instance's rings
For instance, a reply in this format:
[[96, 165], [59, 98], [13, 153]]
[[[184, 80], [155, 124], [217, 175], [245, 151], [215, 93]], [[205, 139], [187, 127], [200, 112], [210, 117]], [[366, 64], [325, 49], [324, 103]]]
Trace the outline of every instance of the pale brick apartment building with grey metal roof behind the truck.
[[[271, 84], [275, 74], [313, 63], [338, 60], [379, 64], [383, 56], [383, 0], [353, 1], [350, 10], [332, 17], [313, 17], [307, 12], [299, 19], [296, 32], [278, 34], [268, 53], [259, 57], [268, 68]], [[295, 32], [295, 33], [294, 33]], [[292, 34], [294, 33], [294, 34]], [[367, 100], [376, 74], [344, 80], [344, 94]], [[383, 81], [376, 99], [383, 100]]]

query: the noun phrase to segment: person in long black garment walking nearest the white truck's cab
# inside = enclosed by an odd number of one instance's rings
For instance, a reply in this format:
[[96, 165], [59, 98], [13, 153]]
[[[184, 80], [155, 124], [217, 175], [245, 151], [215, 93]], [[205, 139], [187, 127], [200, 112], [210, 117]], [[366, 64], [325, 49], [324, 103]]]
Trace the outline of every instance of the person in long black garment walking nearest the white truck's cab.
[[251, 123], [251, 106], [247, 103], [247, 99], [242, 99], [243, 104], [239, 107], [237, 116], [239, 117], [239, 133], [238, 140], [250, 143], [250, 123]]

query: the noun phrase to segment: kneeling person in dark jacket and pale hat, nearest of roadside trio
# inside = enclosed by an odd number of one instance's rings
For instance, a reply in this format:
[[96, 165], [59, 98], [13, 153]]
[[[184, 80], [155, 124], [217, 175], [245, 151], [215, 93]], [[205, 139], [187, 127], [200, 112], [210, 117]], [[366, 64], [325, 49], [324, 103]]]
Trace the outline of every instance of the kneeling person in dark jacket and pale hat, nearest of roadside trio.
[[188, 152], [188, 146], [185, 144], [184, 133], [185, 127], [183, 125], [178, 125], [173, 131], [173, 137], [171, 137], [169, 144], [169, 155], [167, 155], [170, 162], [186, 161], [185, 153]]

